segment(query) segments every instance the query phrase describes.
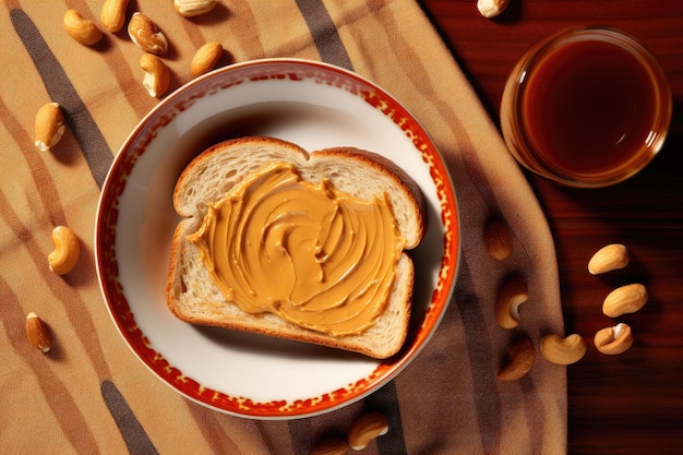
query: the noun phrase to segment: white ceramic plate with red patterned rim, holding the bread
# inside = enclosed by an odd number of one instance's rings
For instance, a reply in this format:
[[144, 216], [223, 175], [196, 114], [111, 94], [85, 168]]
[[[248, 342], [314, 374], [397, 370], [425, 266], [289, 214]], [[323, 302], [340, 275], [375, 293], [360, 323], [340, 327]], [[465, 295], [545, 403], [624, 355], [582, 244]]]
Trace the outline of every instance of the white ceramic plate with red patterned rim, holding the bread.
[[[206, 146], [269, 135], [308, 151], [350, 145], [403, 167], [422, 190], [427, 237], [414, 251], [410, 333], [385, 361], [177, 320], [165, 301], [176, 180]], [[391, 95], [346, 70], [268, 59], [199, 77], [149, 112], [118, 153], [95, 229], [97, 273], [125, 343], [163, 382], [207, 407], [253, 418], [312, 416], [372, 393], [404, 369], [446, 310], [459, 259], [457, 205], [426, 131]]]

